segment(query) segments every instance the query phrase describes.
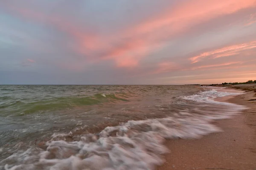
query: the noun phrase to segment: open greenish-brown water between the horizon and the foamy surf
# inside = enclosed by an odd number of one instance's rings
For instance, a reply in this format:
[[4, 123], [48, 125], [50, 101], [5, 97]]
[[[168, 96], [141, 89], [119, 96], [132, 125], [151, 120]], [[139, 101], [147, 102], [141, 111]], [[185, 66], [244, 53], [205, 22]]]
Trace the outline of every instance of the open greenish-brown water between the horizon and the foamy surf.
[[[180, 106], [198, 86], [1, 85], [0, 145], [32, 141], [56, 131], [164, 116], [159, 106]], [[181, 106], [182, 108], [182, 106]]]

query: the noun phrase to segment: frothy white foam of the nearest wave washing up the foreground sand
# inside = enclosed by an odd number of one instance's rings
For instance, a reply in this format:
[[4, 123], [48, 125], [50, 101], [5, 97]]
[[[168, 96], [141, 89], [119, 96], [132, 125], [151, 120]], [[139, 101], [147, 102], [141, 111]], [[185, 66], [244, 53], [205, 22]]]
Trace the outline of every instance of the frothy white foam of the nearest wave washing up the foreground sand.
[[[12, 155], [7, 159], [15, 157], [20, 165], [12, 168], [6, 165], [5, 169], [34, 170], [40, 165], [43, 170], [152, 170], [155, 165], [163, 163], [160, 155], [168, 152], [163, 145], [164, 139], [198, 138], [218, 131], [218, 127], [200, 117], [128, 121], [116, 127], [106, 127], [98, 137], [94, 137], [94, 142], [87, 140], [90, 138], [88, 135], [75, 142], [49, 141], [47, 151], [41, 150], [33, 164], [24, 164], [24, 156], [26, 160], [32, 158], [25, 153], [32, 150], [24, 152], [20, 159], [17, 153], [17, 157]], [[110, 136], [113, 132], [116, 135]], [[49, 157], [52, 159], [49, 160]]]

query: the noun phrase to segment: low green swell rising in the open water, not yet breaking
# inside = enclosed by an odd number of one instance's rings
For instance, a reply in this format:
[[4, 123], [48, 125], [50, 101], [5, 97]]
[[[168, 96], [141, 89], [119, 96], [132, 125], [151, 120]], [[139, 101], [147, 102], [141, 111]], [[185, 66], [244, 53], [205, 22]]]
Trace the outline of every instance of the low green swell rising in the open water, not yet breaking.
[[[45, 98], [39, 101], [29, 101], [13, 99], [10, 102], [4, 102], [0, 106], [0, 111], [2, 115], [6, 111], [6, 114], [15, 113], [16, 115], [24, 115], [36, 112], [45, 111], [56, 111], [65, 108], [73, 108], [76, 106], [84, 105], [97, 105], [104, 102], [118, 102], [118, 101], [128, 101], [128, 95], [126, 94], [95, 94], [93, 96], [69, 96], [69, 97], [54, 97]], [[4, 98], [6, 99], [6, 98]]]

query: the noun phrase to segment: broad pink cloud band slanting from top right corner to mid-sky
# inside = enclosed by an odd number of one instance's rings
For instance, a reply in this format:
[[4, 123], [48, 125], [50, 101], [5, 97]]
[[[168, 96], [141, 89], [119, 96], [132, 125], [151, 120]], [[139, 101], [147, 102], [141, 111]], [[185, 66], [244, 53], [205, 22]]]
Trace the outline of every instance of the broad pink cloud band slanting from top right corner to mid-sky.
[[121, 39], [124, 40], [121, 44], [125, 45], [114, 46], [109, 54], [99, 60], [113, 59], [118, 67], [136, 66], [150, 52], [160, 49], [170, 36], [189, 31], [191, 26], [198, 23], [252, 6], [256, 6], [254, 0], [227, 0], [218, 3], [215, 0], [191, 0], [179, 3], [172, 10], [114, 34], [112, 42], [116, 42], [116, 39], [119, 42]]

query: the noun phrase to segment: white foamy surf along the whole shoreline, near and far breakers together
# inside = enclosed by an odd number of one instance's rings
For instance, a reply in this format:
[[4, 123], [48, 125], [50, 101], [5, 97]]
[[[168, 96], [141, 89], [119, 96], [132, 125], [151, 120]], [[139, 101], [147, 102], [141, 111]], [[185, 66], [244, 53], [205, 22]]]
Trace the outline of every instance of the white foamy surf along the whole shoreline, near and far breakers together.
[[16, 152], [0, 161], [0, 165], [5, 170], [153, 170], [163, 163], [161, 155], [169, 152], [163, 144], [165, 139], [200, 138], [219, 132], [221, 129], [212, 125], [212, 120], [245, 109], [241, 105], [213, 102], [215, 97], [228, 95], [233, 94], [210, 90], [184, 97], [221, 106], [218, 111], [198, 114], [187, 110], [172, 117], [128, 121], [105, 127], [97, 134], [79, 133], [81, 128], [67, 134], [55, 133], [40, 147]]

